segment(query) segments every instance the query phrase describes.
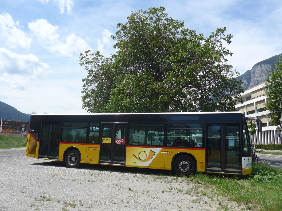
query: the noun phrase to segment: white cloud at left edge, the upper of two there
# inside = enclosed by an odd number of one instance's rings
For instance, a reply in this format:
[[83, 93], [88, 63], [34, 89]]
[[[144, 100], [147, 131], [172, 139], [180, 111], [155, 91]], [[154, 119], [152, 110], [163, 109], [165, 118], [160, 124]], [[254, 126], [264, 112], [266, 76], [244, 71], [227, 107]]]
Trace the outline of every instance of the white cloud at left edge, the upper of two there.
[[32, 39], [20, 29], [19, 22], [13, 21], [10, 14], [0, 14], [1, 43], [10, 48], [30, 48]]

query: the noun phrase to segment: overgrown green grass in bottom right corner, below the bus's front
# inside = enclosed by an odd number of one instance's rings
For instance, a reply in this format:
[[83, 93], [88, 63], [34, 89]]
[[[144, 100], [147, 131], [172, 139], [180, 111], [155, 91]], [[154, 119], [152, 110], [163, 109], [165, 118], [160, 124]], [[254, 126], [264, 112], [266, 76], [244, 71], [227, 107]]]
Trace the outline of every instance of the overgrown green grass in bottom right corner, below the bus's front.
[[250, 210], [282, 210], [282, 170], [267, 163], [254, 164], [248, 178], [197, 174], [194, 181], [213, 185], [219, 196], [243, 203]]

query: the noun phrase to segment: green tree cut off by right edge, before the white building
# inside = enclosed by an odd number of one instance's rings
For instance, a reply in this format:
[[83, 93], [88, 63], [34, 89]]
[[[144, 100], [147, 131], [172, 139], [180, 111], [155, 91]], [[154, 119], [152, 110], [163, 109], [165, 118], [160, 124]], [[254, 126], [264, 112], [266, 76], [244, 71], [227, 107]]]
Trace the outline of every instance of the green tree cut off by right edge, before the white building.
[[[270, 117], [270, 124], [281, 125], [281, 108], [279, 102], [279, 96], [282, 100], [282, 56], [276, 61], [274, 69], [270, 70], [266, 78], [266, 96], [267, 101], [265, 108], [268, 111]], [[281, 102], [282, 103], [282, 102]]]

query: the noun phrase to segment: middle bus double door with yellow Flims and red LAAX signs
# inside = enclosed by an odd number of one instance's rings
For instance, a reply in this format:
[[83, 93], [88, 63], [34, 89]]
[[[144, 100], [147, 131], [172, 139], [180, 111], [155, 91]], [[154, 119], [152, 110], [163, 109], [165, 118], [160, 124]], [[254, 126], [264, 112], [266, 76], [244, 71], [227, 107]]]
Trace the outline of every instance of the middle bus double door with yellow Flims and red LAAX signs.
[[100, 163], [125, 165], [126, 124], [103, 123]]

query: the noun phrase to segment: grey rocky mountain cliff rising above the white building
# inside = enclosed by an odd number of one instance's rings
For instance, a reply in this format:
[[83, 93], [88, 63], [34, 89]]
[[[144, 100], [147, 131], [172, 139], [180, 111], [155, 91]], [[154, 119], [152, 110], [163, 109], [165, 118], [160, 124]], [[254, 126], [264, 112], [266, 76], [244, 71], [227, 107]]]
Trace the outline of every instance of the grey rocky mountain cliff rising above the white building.
[[252, 67], [252, 69], [240, 75], [237, 80], [241, 80], [243, 82], [241, 85], [242, 88], [244, 90], [249, 89], [264, 82], [265, 78], [269, 78], [267, 75], [268, 71], [273, 69], [272, 65], [275, 64], [275, 61], [278, 60], [281, 55], [282, 53], [258, 62]]

